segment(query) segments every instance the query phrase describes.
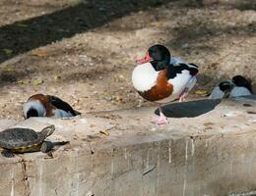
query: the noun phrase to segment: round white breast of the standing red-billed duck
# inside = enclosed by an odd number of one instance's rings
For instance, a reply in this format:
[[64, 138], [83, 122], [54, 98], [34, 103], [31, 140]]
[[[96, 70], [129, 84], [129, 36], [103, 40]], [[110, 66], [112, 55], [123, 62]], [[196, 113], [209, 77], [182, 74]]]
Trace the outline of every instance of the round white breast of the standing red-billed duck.
[[158, 76], [151, 63], [142, 64], [133, 70], [132, 83], [136, 90], [144, 92], [156, 85]]

